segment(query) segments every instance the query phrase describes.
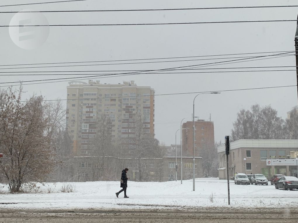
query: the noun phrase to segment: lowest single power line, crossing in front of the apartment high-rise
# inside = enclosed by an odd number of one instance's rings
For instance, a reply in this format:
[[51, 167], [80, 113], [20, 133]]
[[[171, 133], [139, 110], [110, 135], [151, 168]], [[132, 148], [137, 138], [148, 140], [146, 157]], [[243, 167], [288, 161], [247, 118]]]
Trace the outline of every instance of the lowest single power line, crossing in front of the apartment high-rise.
[[[214, 90], [214, 91], [201, 91], [201, 92], [182, 92], [182, 93], [170, 93], [170, 94], [157, 94], [157, 95], [149, 95], [149, 96], [154, 96], [155, 97], [155, 96], [165, 96], [165, 95], [186, 95], [186, 94], [199, 94], [199, 93], [210, 93], [210, 92], [229, 92], [229, 91], [244, 91], [244, 90], [257, 90], [257, 89], [273, 89], [273, 88], [282, 88], [282, 87], [297, 87], [297, 85], [242, 88], [242, 89], [229, 89], [229, 90]], [[121, 96], [121, 97], [110, 97], [110, 98], [129, 98], [129, 97], [134, 97], [135, 98], [136, 96]], [[138, 96], [138, 97], [148, 97], [148, 95], [147, 96], [141, 95], [141, 96]], [[31, 101], [65, 101], [65, 100], [70, 100], [70, 99], [31, 100]], [[76, 99], [72, 99], [72, 100], [79, 100], [79, 99], [76, 98]], [[31, 102], [31, 101], [20, 101], [20, 102]]]

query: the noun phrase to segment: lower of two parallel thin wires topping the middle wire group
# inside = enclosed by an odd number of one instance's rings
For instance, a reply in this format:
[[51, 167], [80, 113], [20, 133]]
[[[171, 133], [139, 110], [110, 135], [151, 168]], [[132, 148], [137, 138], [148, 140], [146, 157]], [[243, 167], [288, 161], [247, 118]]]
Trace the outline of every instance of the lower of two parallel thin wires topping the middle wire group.
[[[286, 51], [285, 53], [281, 54], [288, 54], [292, 53], [295, 51]], [[263, 55], [263, 56], [278, 56], [281, 54], [271, 54], [271, 55]], [[293, 56], [296, 54], [288, 54], [288, 56]], [[257, 56], [257, 57], [262, 57], [262, 56]], [[210, 59], [235, 59], [235, 58], [244, 58], [244, 59], [251, 59], [251, 58], [257, 58], [257, 57], [227, 57], [227, 58], [210, 58]], [[183, 61], [197, 61], [197, 60], [210, 60], [210, 59], [194, 59], [194, 60], [181, 60]], [[114, 63], [114, 64], [83, 64], [83, 65], [62, 65], [62, 66], [40, 66], [40, 67], [8, 67], [8, 68], [0, 68], [0, 70], [8, 70], [8, 69], [26, 69], [26, 68], [46, 68], [46, 67], [80, 67], [80, 66], [101, 66], [101, 65], [127, 65], [127, 64], [142, 64], [142, 63], [160, 63], [160, 62], [180, 62], [178, 60], [175, 61], [156, 61], [156, 62], [133, 62], [133, 63]], [[225, 61], [224, 61], [225, 62]], [[75, 62], [72, 62], [75, 63]], [[80, 62], [78, 62], [80, 63]], [[221, 62], [218, 62], [221, 63]]]

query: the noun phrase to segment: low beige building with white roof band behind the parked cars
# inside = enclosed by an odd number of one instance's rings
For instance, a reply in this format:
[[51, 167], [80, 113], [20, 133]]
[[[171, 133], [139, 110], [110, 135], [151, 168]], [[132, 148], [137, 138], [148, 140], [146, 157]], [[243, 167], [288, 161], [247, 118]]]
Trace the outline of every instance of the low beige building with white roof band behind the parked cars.
[[[217, 152], [219, 178], [226, 179], [225, 145], [219, 146]], [[297, 157], [298, 140], [296, 139], [240, 139], [230, 143], [229, 177], [232, 178], [236, 172], [259, 173], [267, 178], [274, 174], [296, 176], [296, 166], [268, 166], [266, 160], [295, 159]]]

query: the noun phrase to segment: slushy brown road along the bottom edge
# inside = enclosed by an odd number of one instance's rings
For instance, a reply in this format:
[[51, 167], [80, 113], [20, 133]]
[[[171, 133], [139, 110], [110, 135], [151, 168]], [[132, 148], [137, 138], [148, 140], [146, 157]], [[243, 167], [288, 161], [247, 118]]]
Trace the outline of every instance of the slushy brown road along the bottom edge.
[[163, 223], [226, 223], [226, 222], [298, 222], [298, 211], [289, 209], [253, 209], [227, 211], [206, 208], [202, 211], [80, 211], [33, 213], [0, 211], [0, 223], [98, 223], [98, 222], [163, 222]]

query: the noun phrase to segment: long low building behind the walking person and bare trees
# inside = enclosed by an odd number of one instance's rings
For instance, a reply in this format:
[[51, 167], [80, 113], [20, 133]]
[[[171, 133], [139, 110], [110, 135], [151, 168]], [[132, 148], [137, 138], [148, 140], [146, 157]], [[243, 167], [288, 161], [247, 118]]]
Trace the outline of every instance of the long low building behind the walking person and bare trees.
[[[80, 156], [74, 157], [73, 180], [74, 181], [96, 181], [101, 179], [101, 175], [107, 173], [108, 180], [121, 178], [121, 171], [128, 168], [128, 178], [132, 181], [170, 181], [176, 180], [176, 160], [175, 157], [162, 158], [142, 158], [141, 161], [135, 158], [105, 157], [107, 160], [105, 167], [97, 166], [98, 157]], [[181, 180], [180, 156], [177, 157], [177, 179]], [[195, 157], [195, 177], [202, 177], [202, 158]], [[141, 174], [140, 174], [141, 173]], [[141, 175], [141, 177], [140, 177]], [[193, 178], [193, 157], [182, 157], [182, 177], [183, 180]]]

